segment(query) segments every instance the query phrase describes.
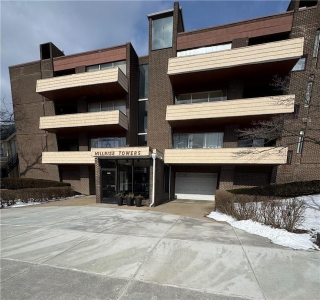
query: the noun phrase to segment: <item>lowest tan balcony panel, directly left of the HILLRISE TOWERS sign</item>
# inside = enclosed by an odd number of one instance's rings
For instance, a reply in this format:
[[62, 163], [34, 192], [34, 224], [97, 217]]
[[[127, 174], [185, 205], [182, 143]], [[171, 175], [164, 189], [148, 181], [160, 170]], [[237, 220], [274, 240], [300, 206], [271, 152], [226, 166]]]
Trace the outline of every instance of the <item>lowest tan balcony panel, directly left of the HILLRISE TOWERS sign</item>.
[[87, 164], [94, 163], [90, 151], [42, 152], [42, 163], [52, 164]]

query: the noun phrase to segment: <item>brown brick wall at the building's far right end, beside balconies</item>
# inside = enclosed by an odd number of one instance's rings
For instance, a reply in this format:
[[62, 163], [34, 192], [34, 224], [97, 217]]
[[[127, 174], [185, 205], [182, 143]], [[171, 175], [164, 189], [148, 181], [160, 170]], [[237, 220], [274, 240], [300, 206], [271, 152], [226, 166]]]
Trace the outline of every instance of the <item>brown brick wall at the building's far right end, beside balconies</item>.
[[[287, 120], [285, 128], [292, 130], [292, 136], [282, 138], [282, 144], [288, 144], [292, 150], [291, 164], [277, 167], [276, 183], [320, 178], [320, 146], [304, 141], [302, 153], [297, 153], [298, 133], [305, 129], [305, 136], [320, 140], [320, 74], [316, 70], [317, 59], [313, 58], [313, 47], [316, 30], [320, 27], [320, 5], [298, 9], [298, 1], [292, 1], [290, 8], [294, 8], [293, 24], [290, 38], [304, 36], [303, 54], [306, 55], [304, 70], [293, 71], [290, 74], [289, 93], [296, 95], [295, 101], [299, 104], [296, 119]], [[305, 106], [305, 91], [307, 82], [312, 81], [310, 105]], [[302, 119], [306, 118], [307, 123]]]

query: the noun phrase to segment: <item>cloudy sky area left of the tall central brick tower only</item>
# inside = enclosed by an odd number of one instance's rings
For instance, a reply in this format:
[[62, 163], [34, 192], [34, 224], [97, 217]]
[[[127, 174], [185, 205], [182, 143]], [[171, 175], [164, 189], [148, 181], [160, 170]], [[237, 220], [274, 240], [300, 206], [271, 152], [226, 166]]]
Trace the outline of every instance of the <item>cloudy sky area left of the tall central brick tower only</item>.
[[1, 1], [1, 97], [11, 98], [8, 66], [38, 60], [52, 41], [65, 54], [131, 41], [147, 54], [146, 14], [172, 1]]

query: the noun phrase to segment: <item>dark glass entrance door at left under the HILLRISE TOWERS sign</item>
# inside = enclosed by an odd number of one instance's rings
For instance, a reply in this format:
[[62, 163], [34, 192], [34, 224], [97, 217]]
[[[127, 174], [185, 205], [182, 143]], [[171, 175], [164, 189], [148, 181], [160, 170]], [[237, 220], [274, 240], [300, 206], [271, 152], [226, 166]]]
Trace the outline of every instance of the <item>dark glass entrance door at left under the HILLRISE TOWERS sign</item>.
[[102, 202], [114, 203], [116, 193], [116, 169], [101, 169]]

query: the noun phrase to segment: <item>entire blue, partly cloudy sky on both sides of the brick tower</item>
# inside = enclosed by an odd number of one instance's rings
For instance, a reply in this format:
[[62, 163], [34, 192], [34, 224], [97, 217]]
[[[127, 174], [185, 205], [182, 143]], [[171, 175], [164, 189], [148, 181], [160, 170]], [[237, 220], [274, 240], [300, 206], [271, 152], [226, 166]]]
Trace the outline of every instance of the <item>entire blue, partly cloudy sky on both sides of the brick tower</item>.
[[[64, 54], [130, 41], [148, 52], [147, 14], [174, 1], [0, 0], [0, 96], [11, 102], [9, 65], [39, 60], [39, 44], [51, 41]], [[179, 1], [185, 31], [285, 11], [289, 0]], [[34, 87], [35, 88], [35, 87]]]

